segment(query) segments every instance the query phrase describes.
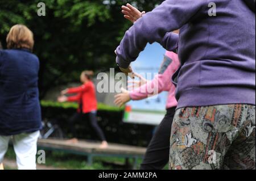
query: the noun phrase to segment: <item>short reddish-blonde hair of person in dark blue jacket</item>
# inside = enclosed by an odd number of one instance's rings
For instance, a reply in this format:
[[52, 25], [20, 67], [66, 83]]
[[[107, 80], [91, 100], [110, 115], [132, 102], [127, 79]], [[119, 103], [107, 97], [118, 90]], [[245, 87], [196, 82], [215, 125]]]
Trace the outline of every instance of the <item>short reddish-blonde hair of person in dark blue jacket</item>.
[[11, 27], [6, 38], [7, 48], [26, 48], [32, 50], [34, 47], [34, 35], [30, 29], [22, 24]]

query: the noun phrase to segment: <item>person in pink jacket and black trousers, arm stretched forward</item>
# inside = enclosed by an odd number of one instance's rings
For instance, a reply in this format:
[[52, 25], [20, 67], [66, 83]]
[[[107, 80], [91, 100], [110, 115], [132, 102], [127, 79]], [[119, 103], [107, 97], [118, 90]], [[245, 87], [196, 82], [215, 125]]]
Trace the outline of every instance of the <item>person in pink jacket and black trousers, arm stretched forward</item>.
[[[152, 81], [145, 81], [141, 77], [141, 87], [133, 91], [123, 90], [123, 93], [115, 96], [115, 104], [122, 106], [130, 100], [142, 100], [149, 96], [160, 94], [160, 92], [168, 91], [167, 113], [148, 145], [146, 155], [141, 164], [141, 170], [160, 170], [169, 161], [171, 126], [177, 106], [175, 86], [171, 82], [171, 77], [179, 68], [179, 65], [177, 54], [167, 51], [159, 74]], [[152, 89], [147, 89], [147, 87], [152, 87]]]

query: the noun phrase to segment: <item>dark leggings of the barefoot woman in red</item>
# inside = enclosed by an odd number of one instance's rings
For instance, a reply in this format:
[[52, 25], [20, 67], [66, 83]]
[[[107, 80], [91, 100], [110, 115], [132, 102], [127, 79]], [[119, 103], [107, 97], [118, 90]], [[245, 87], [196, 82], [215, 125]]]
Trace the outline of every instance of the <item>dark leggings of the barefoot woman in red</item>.
[[73, 136], [77, 137], [75, 123], [80, 120], [85, 120], [86, 116], [89, 116], [90, 125], [97, 133], [97, 136], [100, 138], [100, 140], [106, 141], [106, 137], [97, 123], [97, 112], [75, 113], [68, 121], [69, 128], [71, 129]]

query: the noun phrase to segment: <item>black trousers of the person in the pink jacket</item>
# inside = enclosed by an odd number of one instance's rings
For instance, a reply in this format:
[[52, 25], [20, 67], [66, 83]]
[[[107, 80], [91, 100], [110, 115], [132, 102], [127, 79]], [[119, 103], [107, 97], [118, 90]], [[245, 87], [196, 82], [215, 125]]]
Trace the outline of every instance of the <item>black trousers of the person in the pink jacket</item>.
[[156, 129], [141, 164], [141, 170], [162, 170], [169, 162], [170, 137], [175, 108], [169, 108]]

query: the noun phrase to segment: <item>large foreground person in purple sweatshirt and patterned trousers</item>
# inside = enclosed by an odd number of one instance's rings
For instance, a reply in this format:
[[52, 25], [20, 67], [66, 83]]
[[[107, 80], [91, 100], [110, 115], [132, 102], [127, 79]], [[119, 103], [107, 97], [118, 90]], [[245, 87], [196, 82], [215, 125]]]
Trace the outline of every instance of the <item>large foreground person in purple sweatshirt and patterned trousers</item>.
[[[170, 169], [255, 170], [254, 0], [167, 0], [115, 50], [126, 74], [147, 43], [180, 29]], [[164, 47], [167, 50], [167, 47]]]

